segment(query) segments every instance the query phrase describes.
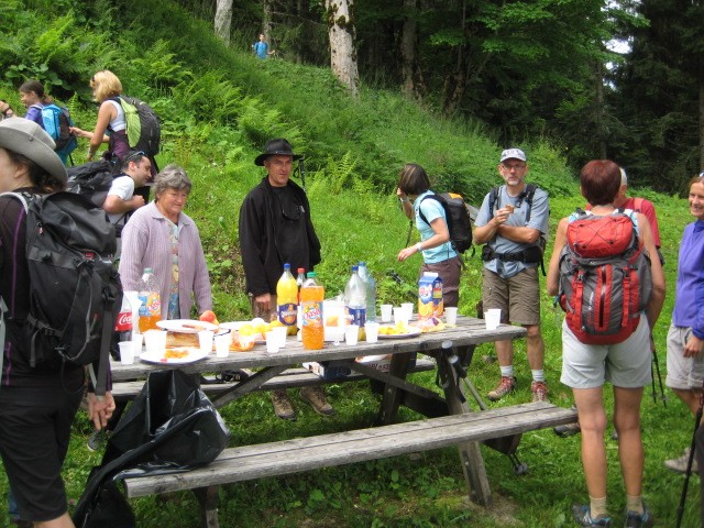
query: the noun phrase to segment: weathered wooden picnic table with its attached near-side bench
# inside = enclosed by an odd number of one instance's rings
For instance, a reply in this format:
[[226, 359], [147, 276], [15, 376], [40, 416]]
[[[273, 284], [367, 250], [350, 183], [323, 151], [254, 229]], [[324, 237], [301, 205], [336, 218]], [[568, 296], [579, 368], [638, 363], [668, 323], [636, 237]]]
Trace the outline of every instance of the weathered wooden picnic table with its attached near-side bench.
[[[112, 380], [116, 383], [145, 378], [151, 372], [163, 369], [179, 369], [194, 375], [239, 369], [255, 371], [250, 377], [219, 393], [212, 399], [216, 407], [231, 404], [260, 389], [287, 369], [306, 362], [330, 362], [346, 367], [369, 377], [383, 392], [375, 428], [230, 448], [202, 470], [191, 470], [186, 474], [129, 479], [125, 481], [128, 496], [194, 490], [202, 506], [202, 525], [218, 526], [217, 486], [220, 484], [458, 446], [470, 499], [488, 506], [492, 504], [492, 496], [480, 441], [486, 441], [490, 446], [491, 441], [498, 441], [503, 443], [504, 451], [510, 453], [512, 450], [515, 451], [522, 432], [576, 421], [573, 410], [546, 403], [471, 411], [461, 380], [466, 373], [457, 361], [455, 348], [469, 346], [472, 353], [477, 344], [513, 340], [525, 334], [522, 327], [501, 324], [494, 330], [487, 330], [482, 319], [460, 316], [455, 326], [441, 331], [400, 339], [382, 337], [376, 343], [326, 343], [322, 350], [304, 350], [299, 341], [289, 337], [286, 346], [277, 353], [267, 353], [264, 345], [257, 345], [246, 352], [232, 352], [228, 358], [212, 354], [188, 364], [152, 364], [140, 361], [131, 365], [114, 363]], [[443, 395], [406, 378], [416, 353], [435, 360]], [[356, 361], [360, 356], [386, 354], [392, 355], [387, 372]], [[471, 383], [468, 386], [472, 387]], [[418, 411], [427, 419], [394, 424], [400, 405]], [[305, 454], [295, 455], [295, 450], [301, 450]], [[251, 464], [249, 470], [248, 463]]]

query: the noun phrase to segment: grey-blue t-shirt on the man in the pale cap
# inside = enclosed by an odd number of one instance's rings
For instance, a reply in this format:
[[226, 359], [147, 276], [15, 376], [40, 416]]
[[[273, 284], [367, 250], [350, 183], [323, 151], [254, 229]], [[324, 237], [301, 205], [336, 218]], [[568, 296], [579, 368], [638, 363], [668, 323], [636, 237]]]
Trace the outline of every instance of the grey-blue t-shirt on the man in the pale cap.
[[[475, 226], [482, 228], [486, 226], [490, 220], [488, 212], [488, 197], [491, 193], [484, 197], [484, 201], [482, 202], [482, 208], [476, 216]], [[509, 196], [506, 191], [506, 186], [502, 185], [498, 189], [498, 199], [494, 205], [493, 212], [496, 213], [498, 209], [506, 205], [512, 205], [515, 207], [513, 215], [508, 217], [505, 226], [514, 226], [517, 228], [531, 228], [537, 229], [542, 234], [548, 234], [548, 217], [550, 213], [550, 206], [548, 201], [548, 194], [538, 188], [536, 189], [536, 194], [532, 197], [532, 206], [530, 206], [530, 220], [526, 222], [526, 215], [528, 213], [528, 204], [524, 199], [520, 204], [520, 207], [517, 207], [518, 196]], [[490, 242], [488, 245], [496, 253], [518, 253], [519, 251], [529, 248], [535, 244], [520, 244], [518, 242], [514, 242], [513, 240], [505, 239], [501, 235], [495, 235]], [[498, 274], [502, 278], [510, 278], [514, 275], [518, 275], [520, 272], [526, 270], [527, 267], [535, 267], [538, 263], [526, 264], [525, 262], [504, 262], [498, 258], [494, 258], [492, 261], [485, 261], [484, 267], [487, 270]]]

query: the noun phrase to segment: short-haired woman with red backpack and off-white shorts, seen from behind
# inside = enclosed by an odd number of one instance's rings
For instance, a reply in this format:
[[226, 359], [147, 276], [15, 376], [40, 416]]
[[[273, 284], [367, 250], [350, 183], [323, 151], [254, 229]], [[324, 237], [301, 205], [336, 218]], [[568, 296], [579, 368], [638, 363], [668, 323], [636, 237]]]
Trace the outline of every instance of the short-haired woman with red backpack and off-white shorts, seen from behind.
[[[614, 207], [619, 187], [620, 170], [614, 162], [596, 160], [582, 168], [580, 189], [592, 206], [592, 210], [587, 215], [563, 218], [560, 221], [547, 278], [548, 293], [553, 296], [562, 294], [560, 300], [568, 312], [562, 324], [561, 382], [572, 387], [582, 426], [582, 464], [590, 502], [585, 505], [574, 505], [572, 514], [578, 526], [585, 527], [612, 526], [606, 508], [606, 447], [604, 444], [607, 420], [603, 391], [604, 383], [607, 381], [614, 386], [614, 426], [618, 432], [618, 455], [626, 487], [625, 526], [637, 528], [653, 524], [652, 515], [645, 506], [641, 496], [644, 448], [640, 437], [640, 402], [642, 387], [651, 382], [650, 328], [662, 309], [666, 293], [664, 275], [660, 260], [657, 258], [658, 253], [648, 219], [641, 213], [622, 211]], [[605, 221], [601, 222], [602, 220]], [[605, 331], [597, 330], [590, 334], [588, 327], [597, 322], [585, 318], [581, 319], [580, 324], [574, 322], [580, 319], [570, 311], [571, 305], [573, 309], [574, 305], [582, 304], [582, 299], [587, 302], [586, 299], [590, 298], [586, 294], [581, 296], [580, 285], [586, 284], [590, 279], [590, 271], [580, 263], [579, 254], [584, 253], [585, 246], [591, 242], [586, 234], [579, 238], [574, 235], [579, 230], [578, 221], [584, 224], [591, 223], [592, 229], [586, 230], [591, 232], [597, 230], [601, 223], [608, 227], [609, 221], [625, 224], [630, 229], [623, 231], [628, 238], [624, 254], [629, 252], [629, 255], [632, 254], [636, 258], [645, 250], [651, 256], [650, 273], [647, 277], [650, 279], [647, 280], [648, 294], [647, 298], [641, 299], [645, 305], [642, 312], [629, 314], [627, 308], [616, 306], [618, 287], [609, 293], [613, 294], [608, 299], [613, 301], [609, 309], [625, 314], [628, 321], [632, 321], [632, 324], [628, 324], [629, 330], [625, 332], [626, 334], [619, 331], [613, 336], [613, 339], [609, 339]], [[594, 239], [602, 240], [603, 237]], [[614, 256], [623, 257], [623, 255]], [[607, 264], [603, 266], [604, 270]], [[575, 283], [573, 275], [578, 273], [582, 275]], [[575, 284], [576, 287], [571, 287]], [[613, 285], [613, 283], [603, 283], [606, 288]], [[565, 289], [571, 292], [565, 294]], [[593, 300], [593, 297], [598, 296], [591, 296], [588, 300], [595, 306], [596, 300]], [[624, 295], [624, 298], [626, 297]], [[627, 307], [628, 302], [624, 306]], [[588, 308], [585, 309], [588, 311]], [[592, 315], [593, 312], [594, 310]]]

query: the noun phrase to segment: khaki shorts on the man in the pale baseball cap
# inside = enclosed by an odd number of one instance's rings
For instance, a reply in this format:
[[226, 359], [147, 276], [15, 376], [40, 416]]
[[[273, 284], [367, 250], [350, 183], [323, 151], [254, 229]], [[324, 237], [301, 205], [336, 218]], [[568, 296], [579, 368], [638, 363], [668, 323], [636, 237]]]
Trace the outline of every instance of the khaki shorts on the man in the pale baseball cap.
[[527, 267], [509, 278], [482, 268], [484, 311], [501, 308], [502, 322], [540, 324], [540, 280], [538, 267]]

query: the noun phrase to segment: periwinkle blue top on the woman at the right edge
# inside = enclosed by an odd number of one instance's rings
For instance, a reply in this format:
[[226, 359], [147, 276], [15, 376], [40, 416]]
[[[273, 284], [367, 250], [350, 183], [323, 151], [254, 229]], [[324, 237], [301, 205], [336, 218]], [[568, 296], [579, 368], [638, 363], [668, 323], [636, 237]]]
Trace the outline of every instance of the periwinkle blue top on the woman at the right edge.
[[704, 339], [704, 221], [697, 220], [684, 228], [678, 261], [678, 286], [672, 323], [692, 328], [692, 333]]

